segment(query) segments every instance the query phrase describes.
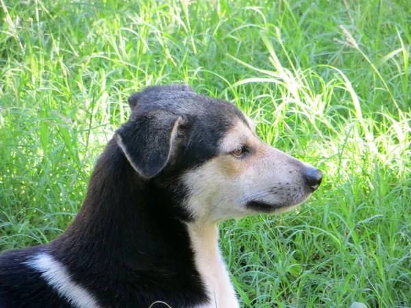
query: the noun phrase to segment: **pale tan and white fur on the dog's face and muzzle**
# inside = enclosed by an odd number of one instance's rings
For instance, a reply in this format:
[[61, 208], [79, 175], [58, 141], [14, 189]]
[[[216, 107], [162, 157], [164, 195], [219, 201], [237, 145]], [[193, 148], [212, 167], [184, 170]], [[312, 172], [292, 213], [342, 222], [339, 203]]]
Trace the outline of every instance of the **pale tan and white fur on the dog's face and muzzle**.
[[[247, 145], [251, 153], [230, 153]], [[220, 144], [221, 155], [190, 170], [184, 182], [190, 190], [187, 207], [197, 219], [217, 222], [258, 213], [249, 201], [273, 205], [272, 213], [288, 211], [310, 192], [301, 175], [303, 162], [265, 144], [238, 120]]]

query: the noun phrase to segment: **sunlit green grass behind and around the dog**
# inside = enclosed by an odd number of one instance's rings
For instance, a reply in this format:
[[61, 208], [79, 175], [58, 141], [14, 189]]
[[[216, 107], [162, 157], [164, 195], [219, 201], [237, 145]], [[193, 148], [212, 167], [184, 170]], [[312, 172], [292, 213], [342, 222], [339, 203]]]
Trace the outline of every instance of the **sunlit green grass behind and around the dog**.
[[187, 82], [325, 175], [221, 224], [242, 306], [410, 307], [410, 24], [408, 0], [0, 0], [0, 250], [71, 222], [130, 93]]

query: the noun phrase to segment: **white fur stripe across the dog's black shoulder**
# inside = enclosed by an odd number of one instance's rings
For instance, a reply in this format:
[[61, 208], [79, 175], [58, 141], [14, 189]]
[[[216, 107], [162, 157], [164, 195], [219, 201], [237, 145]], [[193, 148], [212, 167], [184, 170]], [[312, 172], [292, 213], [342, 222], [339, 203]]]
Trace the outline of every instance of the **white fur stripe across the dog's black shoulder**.
[[83, 287], [74, 283], [69, 272], [59, 261], [47, 253], [40, 253], [25, 262], [31, 268], [41, 272], [42, 278], [76, 308], [99, 308], [97, 300]]

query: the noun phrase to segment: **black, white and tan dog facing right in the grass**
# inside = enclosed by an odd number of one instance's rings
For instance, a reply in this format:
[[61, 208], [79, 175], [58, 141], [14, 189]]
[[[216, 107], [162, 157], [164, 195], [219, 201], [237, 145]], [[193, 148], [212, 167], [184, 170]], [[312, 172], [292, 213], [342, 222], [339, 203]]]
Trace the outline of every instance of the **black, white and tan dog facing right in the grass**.
[[1, 255], [1, 308], [238, 308], [217, 222], [289, 211], [321, 184], [228, 101], [168, 85], [128, 102], [66, 231]]

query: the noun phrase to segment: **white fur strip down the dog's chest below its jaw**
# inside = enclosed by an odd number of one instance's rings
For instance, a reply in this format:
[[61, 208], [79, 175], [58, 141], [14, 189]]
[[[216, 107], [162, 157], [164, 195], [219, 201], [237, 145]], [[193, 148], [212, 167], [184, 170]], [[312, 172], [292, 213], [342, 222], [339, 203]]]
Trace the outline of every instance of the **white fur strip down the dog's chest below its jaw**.
[[211, 298], [210, 304], [196, 308], [240, 307], [229, 274], [221, 259], [216, 225], [188, 226], [188, 232], [195, 252], [195, 265]]

